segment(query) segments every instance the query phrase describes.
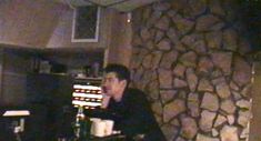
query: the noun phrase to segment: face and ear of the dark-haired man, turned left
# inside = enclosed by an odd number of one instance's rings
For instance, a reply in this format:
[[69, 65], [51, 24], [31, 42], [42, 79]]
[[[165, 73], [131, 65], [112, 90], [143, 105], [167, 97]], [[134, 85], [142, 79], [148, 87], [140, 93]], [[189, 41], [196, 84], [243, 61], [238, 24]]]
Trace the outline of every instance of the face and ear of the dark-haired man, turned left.
[[126, 88], [126, 80], [119, 80], [114, 72], [106, 73], [102, 81], [102, 89], [104, 94], [116, 97], [122, 94]]

